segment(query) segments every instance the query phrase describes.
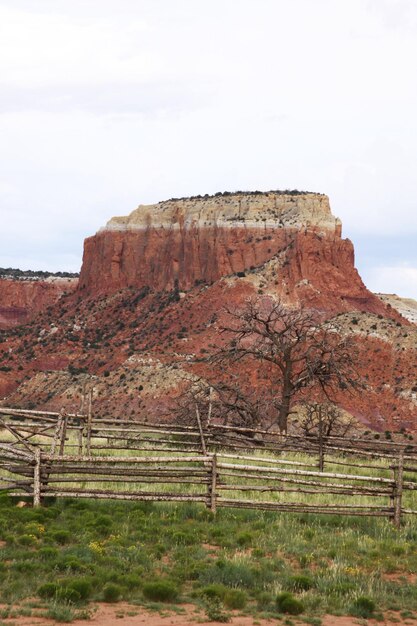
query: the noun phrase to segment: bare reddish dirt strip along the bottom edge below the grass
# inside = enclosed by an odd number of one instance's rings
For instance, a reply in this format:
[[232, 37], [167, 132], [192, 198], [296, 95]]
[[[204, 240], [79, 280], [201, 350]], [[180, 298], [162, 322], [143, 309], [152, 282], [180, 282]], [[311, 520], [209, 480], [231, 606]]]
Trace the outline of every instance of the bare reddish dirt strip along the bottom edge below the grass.
[[[89, 620], [75, 620], [72, 622], [74, 626], [208, 626], [216, 624], [216, 622], [208, 622], [204, 619], [204, 615], [193, 606], [183, 606], [181, 614], [175, 612], [155, 613], [145, 609], [120, 603], [117, 605], [96, 604], [94, 612]], [[305, 624], [302, 619], [291, 617], [294, 626], [302, 626]], [[46, 619], [44, 617], [14, 617], [3, 619], [1, 625], [6, 624], [12, 626], [55, 626], [58, 622]], [[232, 626], [279, 626], [285, 621], [258, 620], [253, 617], [241, 617], [234, 615], [229, 622]], [[353, 617], [335, 617], [326, 615], [322, 618], [322, 626], [359, 626], [367, 624], [368, 626], [417, 626], [415, 619], [402, 619], [398, 614], [390, 614], [384, 621], [376, 621], [373, 619], [363, 620]]]

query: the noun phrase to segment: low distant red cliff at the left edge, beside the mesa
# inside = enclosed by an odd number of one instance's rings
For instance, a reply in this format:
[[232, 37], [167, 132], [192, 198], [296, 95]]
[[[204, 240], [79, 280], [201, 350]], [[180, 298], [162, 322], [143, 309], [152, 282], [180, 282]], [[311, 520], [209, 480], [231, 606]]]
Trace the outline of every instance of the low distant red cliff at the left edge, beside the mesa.
[[0, 328], [26, 323], [76, 286], [74, 279], [55, 279], [51, 282], [0, 279]]

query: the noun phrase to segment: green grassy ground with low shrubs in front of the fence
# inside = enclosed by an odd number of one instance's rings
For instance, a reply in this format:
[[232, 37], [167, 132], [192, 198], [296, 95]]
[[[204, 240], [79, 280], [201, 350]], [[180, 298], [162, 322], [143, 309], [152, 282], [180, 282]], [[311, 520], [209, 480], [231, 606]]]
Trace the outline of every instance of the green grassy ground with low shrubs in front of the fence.
[[[220, 621], [302, 612], [417, 612], [417, 526], [198, 504], [0, 502], [0, 617], [41, 606], [61, 621], [95, 600], [193, 602]], [[287, 592], [287, 594], [285, 594]], [[35, 600], [34, 600], [35, 598]], [[278, 600], [277, 600], [278, 598]], [[27, 600], [30, 599], [30, 602]]]

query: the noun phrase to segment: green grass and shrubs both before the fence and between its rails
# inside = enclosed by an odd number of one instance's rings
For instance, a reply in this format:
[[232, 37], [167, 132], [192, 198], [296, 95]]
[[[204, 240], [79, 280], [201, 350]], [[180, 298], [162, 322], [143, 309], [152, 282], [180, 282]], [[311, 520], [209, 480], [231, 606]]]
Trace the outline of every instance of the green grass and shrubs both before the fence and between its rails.
[[[176, 434], [168, 440], [166, 426], [159, 435], [155, 427], [147, 428], [147, 434], [143, 432], [136, 442], [132, 432], [129, 441], [123, 441], [123, 428], [116, 437], [111, 425], [102, 424], [101, 437], [93, 437], [89, 454], [100, 455], [104, 460], [107, 455], [110, 462], [119, 448], [118, 454], [131, 461], [125, 463], [129, 468], [135, 457], [149, 456], [149, 449], [155, 454], [155, 448], [159, 448], [160, 458], [165, 450], [167, 458], [172, 459], [175, 445], [181, 448], [181, 439], [188, 438], [190, 448], [200, 444], [198, 432], [180, 437], [181, 429], [177, 427]], [[97, 435], [97, 424], [92, 430]], [[110, 438], [107, 445], [106, 435]], [[128, 435], [126, 428], [124, 437]], [[11, 441], [11, 432], [8, 437]], [[43, 437], [37, 435], [32, 443], [41, 442]], [[48, 441], [44, 439], [44, 446]], [[258, 444], [252, 443], [255, 448], [261, 442]], [[204, 499], [121, 502], [106, 499], [103, 494], [94, 499], [92, 490], [113, 488], [134, 494], [141, 483], [143, 488], [145, 481], [148, 491], [154, 490], [155, 494], [162, 491], [163, 496], [164, 492], [172, 491], [173, 485], [169, 481], [164, 487], [160, 482], [152, 484], [152, 472], [163, 467], [161, 460], [147, 478], [137, 476], [131, 480], [128, 471], [124, 472], [124, 478], [117, 477], [114, 470], [110, 476], [113, 482], [107, 479], [100, 482], [103, 476], [88, 473], [88, 468], [86, 475], [80, 474], [85, 464], [83, 457], [76, 461], [68, 455], [74, 455], [79, 445], [75, 434], [69, 432], [65, 445], [64, 456], [60, 457], [56, 451], [57, 464], [62, 464], [67, 455], [73, 459], [73, 474], [66, 475], [69, 482], [60, 483], [58, 476], [53, 488], [65, 491], [76, 486], [79, 490], [81, 481], [84, 495], [91, 492], [91, 497], [44, 495], [42, 506], [32, 508], [32, 499], [20, 496], [29, 504], [20, 508], [7, 491], [1, 496], [3, 617], [43, 613], [59, 621], [71, 621], [88, 615], [96, 601], [121, 600], [137, 606], [138, 611], [140, 607], [181, 611], [183, 604], [192, 603], [202, 616], [220, 622], [227, 621], [233, 613], [252, 615], [255, 619], [298, 616], [306, 623], [320, 624], [325, 613], [377, 619], [382, 614], [391, 614], [395, 620], [399, 612], [412, 616], [417, 611], [414, 584], [417, 531], [411, 516], [404, 517], [397, 529], [388, 518], [382, 517], [256, 510], [256, 500], [261, 504], [265, 493], [257, 489], [259, 482], [239, 474], [229, 477], [230, 489], [233, 491], [237, 483], [246, 486], [254, 510], [221, 507], [214, 514]], [[243, 470], [251, 457], [256, 465], [278, 467], [281, 463], [281, 467], [296, 467], [300, 471], [303, 465], [307, 469], [314, 463], [312, 456], [316, 454], [251, 451], [247, 439], [246, 445], [244, 458], [237, 461], [241, 464], [241, 474], [249, 473]], [[370, 441], [365, 442], [365, 448], [366, 445], [372, 447]], [[389, 441], [375, 441], [372, 445], [397, 449]], [[25, 447], [23, 442], [19, 447]], [[138, 450], [140, 447], [142, 450]], [[326, 473], [343, 471], [347, 475], [351, 473], [354, 482], [362, 464], [366, 466], [363, 474], [388, 480], [392, 476], [392, 461], [378, 457], [377, 451], [375, 455], [374, 459], [369, 454], [365, 460], [364, 457], [355, 460], [351, 455], [329, 451], [324, 477]], [[218, 457], [230, 462], [226, 448], [218, 450]], [[194, 471], [198, 465], [196, 461]], [[220, 467], [220, 475], [225, 469]], [[191, 474], [190, 470], [189, 478]], [[308, 481], [313, 481], [310, 483], [313, 488], [317, 474], [303, 477], [305, 492], [291, 493], [288, 490], [291, 485], [284, 480], [289, 477], [290, 474], [281, 475], [282, 481], [273, 496], [275, 502], [300, 499], [308, 502], [314, 497], [323, 510], [346, 502], [343, 489], [339, 489], [340, 493], [309, 494]], [[49, 480], [54, 485], [52, 478], [53, 471]], [[411, 472], [406, 472], [406, 480], [413, 480]], [[201, 483], [187, 484], [184, 476], [179, 482], [182, 484], [178, 494], [192, 496], [201, 491]], [[417, 508], [415, 493], [411, 490], [404, 494], [404, 506]], [[364, 506], [375, 502], [372, 494], [362, 494], [360, 498]]]

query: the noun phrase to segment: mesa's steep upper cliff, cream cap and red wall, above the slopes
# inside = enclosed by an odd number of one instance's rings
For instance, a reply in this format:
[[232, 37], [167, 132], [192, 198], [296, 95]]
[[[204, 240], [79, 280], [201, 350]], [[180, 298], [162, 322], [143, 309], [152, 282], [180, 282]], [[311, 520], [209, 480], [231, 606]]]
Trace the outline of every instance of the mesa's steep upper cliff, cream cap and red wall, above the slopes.
[[327, 310], [385, 306], [354, 267], [329, 199], [316, 193], [236, 193], [141, 205], [85, 241], [80, 290], [182, 291], [270, 265], [275, 292]]

